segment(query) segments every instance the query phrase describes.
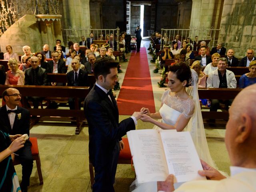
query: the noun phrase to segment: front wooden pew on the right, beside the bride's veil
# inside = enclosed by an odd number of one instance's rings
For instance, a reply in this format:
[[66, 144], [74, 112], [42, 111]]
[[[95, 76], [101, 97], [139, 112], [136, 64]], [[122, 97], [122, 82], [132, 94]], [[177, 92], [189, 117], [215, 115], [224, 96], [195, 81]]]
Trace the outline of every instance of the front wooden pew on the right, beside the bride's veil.
[[[233, 100], [242, 89], [236, 88], [198, 88], [199, 98]], [[202, 111], [204, 119], [228, 119], [228, 111]]]

